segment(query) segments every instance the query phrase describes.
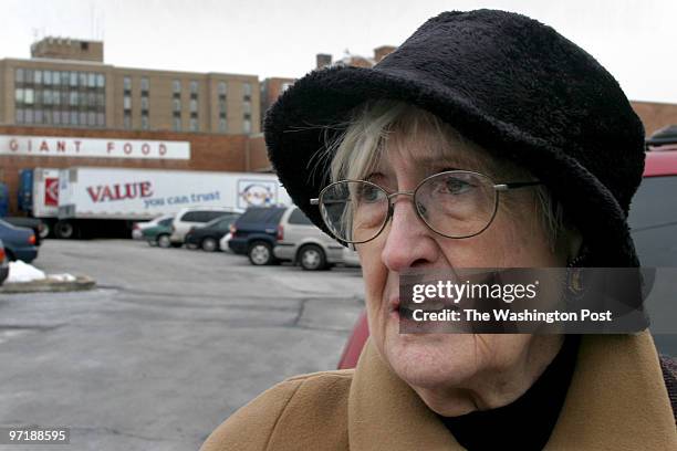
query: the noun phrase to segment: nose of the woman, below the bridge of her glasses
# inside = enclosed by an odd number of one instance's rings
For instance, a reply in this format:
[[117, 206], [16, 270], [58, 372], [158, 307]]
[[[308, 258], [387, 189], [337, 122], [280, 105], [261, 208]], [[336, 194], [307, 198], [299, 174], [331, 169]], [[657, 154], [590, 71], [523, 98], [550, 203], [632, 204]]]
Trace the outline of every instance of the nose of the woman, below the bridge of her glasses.
[[385, 244], [381, 259], [390, 271], [420, 268], [434, 263], [438, 252], [434, 233], [416, 214], [413, 199], [393, 199], [393, 216], [383, 231]]

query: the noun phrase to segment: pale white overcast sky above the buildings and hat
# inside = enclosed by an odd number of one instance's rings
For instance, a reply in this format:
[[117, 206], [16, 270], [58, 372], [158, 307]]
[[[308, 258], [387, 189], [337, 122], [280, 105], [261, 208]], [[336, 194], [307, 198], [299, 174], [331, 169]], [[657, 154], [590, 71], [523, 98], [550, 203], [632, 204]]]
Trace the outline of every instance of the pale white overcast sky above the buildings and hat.
[[631, 99], [677, 103], [675, 0], [0, 0], [0, 57], [34, 36], [105, 41], [117, 66], [299, 77], [316, 53], [371, 56], [445, 10], [496, 8], [554, 27]]

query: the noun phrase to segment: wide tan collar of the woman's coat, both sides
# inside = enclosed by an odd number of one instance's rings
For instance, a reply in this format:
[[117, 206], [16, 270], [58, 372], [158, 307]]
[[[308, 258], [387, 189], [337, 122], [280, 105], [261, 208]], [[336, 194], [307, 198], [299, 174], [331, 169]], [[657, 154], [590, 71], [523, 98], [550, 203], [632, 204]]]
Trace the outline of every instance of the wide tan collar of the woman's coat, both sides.
[[[348, 436], [353, 451], [464, 450], [371, 339], [351, 387]], [[647, 332], [583, 337], [546, 449], [677, 449], [671, 407]]]

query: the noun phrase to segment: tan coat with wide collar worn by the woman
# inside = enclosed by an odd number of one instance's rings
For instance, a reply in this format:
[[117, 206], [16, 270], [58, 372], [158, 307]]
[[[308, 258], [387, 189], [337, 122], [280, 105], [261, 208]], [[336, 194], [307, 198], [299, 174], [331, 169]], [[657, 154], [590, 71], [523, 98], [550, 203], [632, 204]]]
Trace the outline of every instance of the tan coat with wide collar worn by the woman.
[[[490, 431], [488, 431], [490, 433]], [[357, 368], [288, 379], [217, 428], [202, 451], [462, 450], [369, 342]], [[647, 333], [585, 336], [546, 450], [677, 450]]]

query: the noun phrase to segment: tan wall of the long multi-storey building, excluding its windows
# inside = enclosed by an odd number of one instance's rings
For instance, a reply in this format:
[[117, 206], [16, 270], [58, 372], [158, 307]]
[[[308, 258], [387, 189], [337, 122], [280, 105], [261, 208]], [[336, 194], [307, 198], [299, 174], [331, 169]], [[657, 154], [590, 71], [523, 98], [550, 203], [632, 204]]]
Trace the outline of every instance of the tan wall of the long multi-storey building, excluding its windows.
[[[14, 74], [17, 69], [32, 71], [61, 71], [63, 72], [87, 72], [103, 74], [105, 76], [105, 124], [96, 126], [83, 126], [82, 128], [116, 128], [116, 129], [143, 129], [142, 127], [142, 78], [148, 80], [148, 128], [149, 130], [174, 130], [174, 81], [178, 80], [181, 85], [180, 92], [180, 132], [190, 132], [190, 83], [198, 83], [198, 132], [211, 132], [221, 134], [257, 134], [260, 133], [260, 87], [256, 75], [223, 74], [223, 73], [190, 73], [173, 71], [155, 71], [145, 69], [115, 67], [107, 64], [69, 61], [69, 60], [0, 60], [1, 76], [1, 105], [0, 124], [29, 125], [15, 120], [14, 102]], [[132, 117], [131, 127], [125, 127], [124, 97], [125, 77], [132, 82], [131, 101]], [[227, 84], [227, 125], [226, 132], [221, 132], [218, 120], [218, 83]], [[246, 105], [244, 85], [251, 86], [249, 94], [249, 107]], [[51, 91], [50, 86], [40, 85]], [[29, 88], [31, 86], [28, 86]], [[33, 87], [34, 88], [34, 87]], [[64, 90], [73, 91], [70, 86]], [[55, 88], [54, 88], [55, 90]], [[80, 90], [80, 88], [77, 88]], [[77, 91], [75, 90], [75, 91]], [[59, 108], [65, 109], [60, 106]], [[70, 106], [69, 106], [70, 108]], [[80, 108], [80, 107], [79, 107]], [[246, 109], [249, 109], [247, 113]], [[37, 108], [33, 108], [37, 109]], [[53, 111], [55, 107], [41, 109]], [[250, 115], [250, 129], [244, 128], [244, 115]], [[40, 126], [42, 124], [33, 124]], [[52, 126], [46, 125], [44, 126]], [[73, 127], [73, 125], [67, 125]], [[80, 126], [76, 126], [80, 127]]]

